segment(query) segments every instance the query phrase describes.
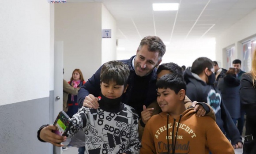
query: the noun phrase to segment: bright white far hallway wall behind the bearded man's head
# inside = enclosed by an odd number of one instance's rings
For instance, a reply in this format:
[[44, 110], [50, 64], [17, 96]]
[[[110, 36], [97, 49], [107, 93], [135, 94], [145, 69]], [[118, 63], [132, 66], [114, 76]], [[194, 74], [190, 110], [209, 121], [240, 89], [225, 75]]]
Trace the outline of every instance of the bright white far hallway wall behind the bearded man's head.
[[[139, 46], [139, 40], [133, 42], [130, 40], [118, 40], [118, 46], [124, 47], [125, 50], [117, 50], [117, 60], [129, 59], [136, 55]], [[192, 66], [196, 58], [205, 56], [215, 60], [215, 38], [206, 38], [200, 41], [188, 41], [184, 44], [170, 46], [166, 45], [166, 53], [162, 58], [162, 63], [173, 62], [180, 66]]]

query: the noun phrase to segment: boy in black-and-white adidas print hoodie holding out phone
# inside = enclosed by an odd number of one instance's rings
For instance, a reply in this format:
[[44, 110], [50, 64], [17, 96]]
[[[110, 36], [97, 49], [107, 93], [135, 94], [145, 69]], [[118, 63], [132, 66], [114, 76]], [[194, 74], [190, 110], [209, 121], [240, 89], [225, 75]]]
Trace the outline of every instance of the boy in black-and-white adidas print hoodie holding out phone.
[[[83, 130], [86, 134], [86, 154], [139, 154], [139, 116], [136, 111], [121, 102], [128, 85], [129, 68], [120, 61], [110, 61], [101, 70], [101, 100], [98, 109], [82, 107], [73, 116], [69, 136]], [[52, 132], [57, 128], [43, 126], [38, 139], [56, 146], [66, 140]], [[54, 142], [53, 142], [54, 140]]]

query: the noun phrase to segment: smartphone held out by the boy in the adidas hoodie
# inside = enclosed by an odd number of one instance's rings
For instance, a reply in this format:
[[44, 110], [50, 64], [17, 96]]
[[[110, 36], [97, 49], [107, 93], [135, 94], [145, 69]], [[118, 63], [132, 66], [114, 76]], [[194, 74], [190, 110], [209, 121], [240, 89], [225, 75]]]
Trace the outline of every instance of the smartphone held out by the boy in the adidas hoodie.
[[73, 120], [69, 118], [67, 113], [60, 111], [53, 125], [57, 126], [59, 129], [54, 131], [55, 134], [61, 136], [68, 136], [68, 131], [72, 125]]

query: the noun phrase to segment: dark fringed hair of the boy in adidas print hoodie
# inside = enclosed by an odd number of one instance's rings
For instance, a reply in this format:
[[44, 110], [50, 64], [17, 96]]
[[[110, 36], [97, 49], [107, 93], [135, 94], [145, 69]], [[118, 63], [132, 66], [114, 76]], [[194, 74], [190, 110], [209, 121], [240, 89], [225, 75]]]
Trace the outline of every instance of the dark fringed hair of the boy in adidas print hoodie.
[[102, 65], [100, 80], [103, 83], [116, 82], [126, 86], [130, 75], [129, 67], [120, 61], [109, 61]]

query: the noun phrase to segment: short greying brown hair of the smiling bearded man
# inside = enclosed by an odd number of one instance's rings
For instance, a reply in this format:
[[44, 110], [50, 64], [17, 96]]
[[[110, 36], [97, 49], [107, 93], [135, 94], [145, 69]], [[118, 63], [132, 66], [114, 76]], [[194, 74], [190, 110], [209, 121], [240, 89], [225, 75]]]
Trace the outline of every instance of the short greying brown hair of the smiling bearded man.
[[143, 45], [148, 45], [148, 50], [152, 52], [159, 52], [158, 61], [162, 59], [166, 53], [166, 45], [157, 36], [146, 36], [140, 41], [138, 49], [140, 50]]

